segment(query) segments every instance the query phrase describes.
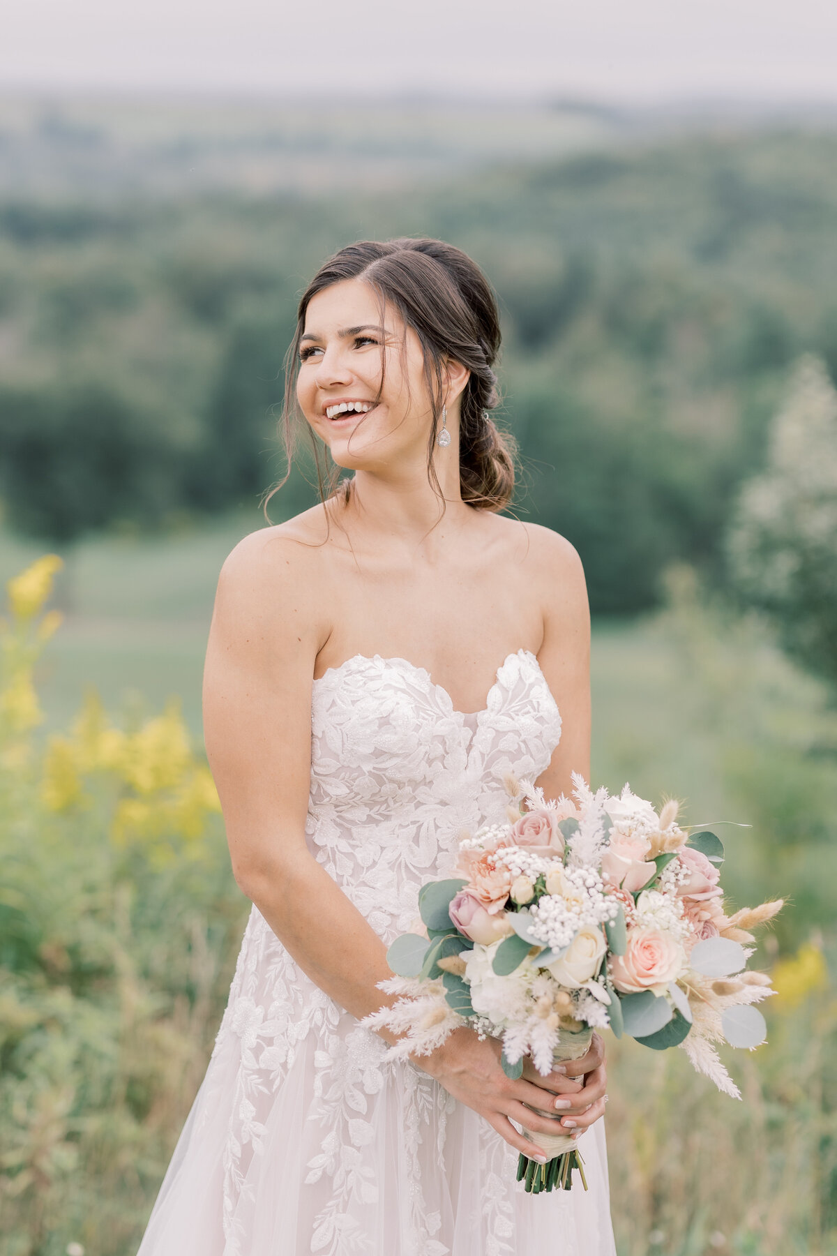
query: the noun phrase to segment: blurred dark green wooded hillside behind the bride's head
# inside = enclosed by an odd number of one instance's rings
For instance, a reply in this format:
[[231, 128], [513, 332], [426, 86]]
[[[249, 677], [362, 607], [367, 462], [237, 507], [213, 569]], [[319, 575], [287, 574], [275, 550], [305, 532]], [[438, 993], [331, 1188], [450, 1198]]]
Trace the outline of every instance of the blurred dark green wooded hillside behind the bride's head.
[[[284, 472], [306, 279], [349, 240], [428, 234], [498, 290], [517, 511], [578, 548], [594, 612], [653, 605], [673, 559], [724, 582], [792, 364], [837, 372], [836, 157], [828, 133], [693, 136], [409, 196], [6, 200], [5, 517], [67, 548], [251, 504]], [[272, 509], [314, 497], [304, 466]]]

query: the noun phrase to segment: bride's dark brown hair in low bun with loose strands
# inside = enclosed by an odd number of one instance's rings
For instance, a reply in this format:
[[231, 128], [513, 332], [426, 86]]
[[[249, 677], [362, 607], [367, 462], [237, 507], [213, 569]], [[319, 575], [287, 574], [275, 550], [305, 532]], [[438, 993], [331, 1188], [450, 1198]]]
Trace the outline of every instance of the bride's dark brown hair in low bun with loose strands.
[[[295, 443], [296, 374], [305, 314], [311, 298], [345, 279], [361, 279], [369, 284], [378, 293], [383, 309], [392, 303], [405, 325], [419, 338], [433, 412], [428, 475], [438, 491], [433, 451], [442, 420], [444, 359], [461, 362], [471, 372], [461, 401], [462, 499], [481, 510], [503, 510], [514, 491], [514, 442], [511, 436], [499, 432], [488, 413], [499, 401], [493, 371], [501, 339], [497, 301], [477, 264], [461, 249], [442, 240], [361, 240], [348, 245], [320, 268], [302, 293], [296, 333], [285, 359], [281, 427], [287, 474]], [[309, 435], [314, 445], [320, 499], [325, 500], [336, 490], [340, 468], [334, 468], [331, 476], [323, 475], [320, 450], [310, 428]], [[344, 484], [348, 495], [350, 481]]]

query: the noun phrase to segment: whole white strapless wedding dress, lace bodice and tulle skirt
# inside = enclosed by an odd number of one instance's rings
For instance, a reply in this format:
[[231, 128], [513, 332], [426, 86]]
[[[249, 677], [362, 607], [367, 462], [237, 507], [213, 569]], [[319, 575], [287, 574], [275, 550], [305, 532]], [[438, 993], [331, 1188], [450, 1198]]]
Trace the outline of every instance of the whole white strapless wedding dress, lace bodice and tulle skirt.
[[[473, 715], [405, 659], [355, 656], [314, 682], [311, 853], [389, 942], [560, 735], [526, 651]], [[615, 1256], [604, 1122], [580, 1138], [586, 1193], [528, 1196], [487, 1122], [384, 1053], [253, 908], [139, 1256]]]

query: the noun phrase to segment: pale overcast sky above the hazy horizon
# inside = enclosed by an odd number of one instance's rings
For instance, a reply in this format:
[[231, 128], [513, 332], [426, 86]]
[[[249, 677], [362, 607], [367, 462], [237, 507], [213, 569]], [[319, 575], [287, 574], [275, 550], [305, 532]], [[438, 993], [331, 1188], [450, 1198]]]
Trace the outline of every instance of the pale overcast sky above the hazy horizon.
[[0, 0], [0, 90], [837, 102], [837, 0]]

